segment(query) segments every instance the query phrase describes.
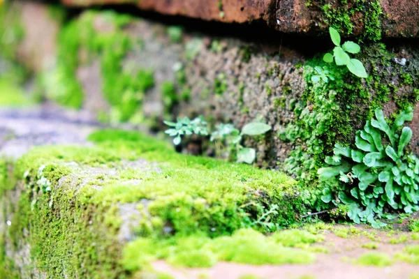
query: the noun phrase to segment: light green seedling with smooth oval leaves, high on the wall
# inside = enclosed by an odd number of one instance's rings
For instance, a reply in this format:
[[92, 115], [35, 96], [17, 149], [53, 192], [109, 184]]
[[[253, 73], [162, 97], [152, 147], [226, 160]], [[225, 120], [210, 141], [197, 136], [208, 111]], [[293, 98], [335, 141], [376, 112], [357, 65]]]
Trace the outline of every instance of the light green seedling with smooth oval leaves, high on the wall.
[[332, 42], [336, 45], [336, 47], [333, 49], [333, 54], [325, 54], [325, 56], [323, 56], [323, 60], [326, 63], [332, 63], [335, 59], [337, 66], [346, 66], [348, 70], [353, 73], [353, 75], [364, 78], [368, 77], [362, 62], [358, 59], [351, 58], [348, 54], [357, 54], [360, 52], [361, 47], [357, 43], [353, 43], [351, 41], [347, 41], [344, 45], [341, 45], [339, 32], [333, 27], [329, 28], [329, 33], [330, 38], [332, 38]]

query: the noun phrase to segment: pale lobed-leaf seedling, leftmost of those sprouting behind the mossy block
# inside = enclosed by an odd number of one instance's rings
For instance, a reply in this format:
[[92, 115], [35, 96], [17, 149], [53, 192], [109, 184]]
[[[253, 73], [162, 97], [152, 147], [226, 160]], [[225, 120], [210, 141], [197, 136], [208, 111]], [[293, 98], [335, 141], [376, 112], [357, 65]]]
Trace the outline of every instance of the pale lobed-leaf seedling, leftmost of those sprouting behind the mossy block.
[[182, 142], [183, 135], [208, 135], [207, 122], [203, 119], [203, 116], [196, 117], [193, 120], [185, 116], [184, 118], [178, 118], [177, 122], [164, 121], [164, 123], [172, 127], [165, 133], [170, 137], [175, 137], [173, 139], [175, 145]]

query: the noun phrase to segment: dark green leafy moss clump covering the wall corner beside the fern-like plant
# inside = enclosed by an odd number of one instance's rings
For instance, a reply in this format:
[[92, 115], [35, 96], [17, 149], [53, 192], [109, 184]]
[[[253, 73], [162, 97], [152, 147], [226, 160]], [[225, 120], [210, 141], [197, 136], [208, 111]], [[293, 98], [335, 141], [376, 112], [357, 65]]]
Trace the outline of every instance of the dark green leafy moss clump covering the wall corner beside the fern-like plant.
[[[298, 142], [285, 160], [284, 169], [299, 178], [304, 188], [302, 197], [314, 211], [333, 209], [336, 206], [332, 202], [325, 205], [319, 197], [323, 195], [323, 187], [337, 193], [341, 186], [338, 183], [317, 181], [318, 168], [323, 167], [325, 156], [332, 153], [335, 144], [351, 144], [355, 138], [355, 128], [362, 127], [366, 119], [372, 118], [377, 107], [382, 107], [391, 99], [396, 103], [395, 113], [415, 104], [417, 100], [417, 93], [413, 89], [417, 81], [413, 77], [413, 84], [409, 85], [406, 93], [397, 91], [406, 79], [410, 82], [402, 67], [383, 70], [392, 65], [392, 55], [385, 50], [385, 45], [370, 45], [362, 51], [361, 57], [365, 59], [361, 60], [369, 69], [369, 77], [365, 82], [353, 78], [344, 68], [323, 62], [321, 57], [307, 61], [303, 73], [308, 84], [307, 90], [302, 99], [295, 103], [295, 121], [288, 123], [279, 134], [281, 140]], [[315, 66], [328, 67], [335, 81], [311, 82]], [[392, 73], [397, 77], [395, 84], [392, 84], [395, 80]]]

